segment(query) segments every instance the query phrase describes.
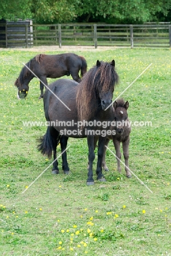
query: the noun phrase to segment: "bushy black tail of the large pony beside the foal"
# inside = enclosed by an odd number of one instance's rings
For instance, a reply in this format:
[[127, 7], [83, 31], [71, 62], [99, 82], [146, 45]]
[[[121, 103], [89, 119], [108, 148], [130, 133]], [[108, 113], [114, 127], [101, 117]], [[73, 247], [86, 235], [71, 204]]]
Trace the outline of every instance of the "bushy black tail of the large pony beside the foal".
[[48, 158], [50, 159], [52, 156], [53, 141], [52, 141], [52, 136], [50, 134], [49, 126], [45, 135], [42, 138], [40, 138], [38, 141], [39, 141], [38, 150], [43, 155], [47, 155]]

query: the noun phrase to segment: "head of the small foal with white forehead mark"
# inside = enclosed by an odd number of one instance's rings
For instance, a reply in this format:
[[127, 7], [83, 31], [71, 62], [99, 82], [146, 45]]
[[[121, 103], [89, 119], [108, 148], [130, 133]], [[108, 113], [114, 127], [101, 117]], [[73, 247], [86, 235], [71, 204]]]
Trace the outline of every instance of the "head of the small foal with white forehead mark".
[[115, 129], [116, 129], [116, 135], [122, 135], [125, 126], [127, 126], [128, 121], [128, 113], [127, 109], [129, 107], [129, 102], [124, 101], [122, 98], [115, 101], [113, 104], [114, 107], [114, 121], [115, 121]]

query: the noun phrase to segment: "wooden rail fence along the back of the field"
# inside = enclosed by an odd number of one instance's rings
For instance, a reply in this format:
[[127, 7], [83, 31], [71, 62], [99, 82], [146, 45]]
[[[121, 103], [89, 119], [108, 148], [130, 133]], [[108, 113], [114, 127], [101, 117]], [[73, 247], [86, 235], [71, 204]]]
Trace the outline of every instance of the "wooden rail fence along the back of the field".
[[[0, 24], [0, 33], [1, 33]], [[113, 25], [113, 24], [54, 24], [22, 25], [25, 33], [17, 31], [19, 25], [5, 24], [5, 40], [0, 46], [30, 47], [38, 45], [93, 45], [97, 46], [152, 46], [171, 47], [170, 24]], [[12, 30], [11, 30], [12, 28]], [[2, 46], [1, 46], [2, 47]]]

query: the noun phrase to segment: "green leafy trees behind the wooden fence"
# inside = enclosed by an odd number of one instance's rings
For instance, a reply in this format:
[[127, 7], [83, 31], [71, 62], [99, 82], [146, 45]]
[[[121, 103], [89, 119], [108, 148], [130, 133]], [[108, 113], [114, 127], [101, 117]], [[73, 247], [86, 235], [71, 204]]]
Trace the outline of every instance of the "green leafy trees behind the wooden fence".
[[0, 19], [17, 16], [32, 18], [39, 24], [72, 21], [134, 24], [163, 21], [170, 15], [170, 8], [171, 0], [2, 0]]

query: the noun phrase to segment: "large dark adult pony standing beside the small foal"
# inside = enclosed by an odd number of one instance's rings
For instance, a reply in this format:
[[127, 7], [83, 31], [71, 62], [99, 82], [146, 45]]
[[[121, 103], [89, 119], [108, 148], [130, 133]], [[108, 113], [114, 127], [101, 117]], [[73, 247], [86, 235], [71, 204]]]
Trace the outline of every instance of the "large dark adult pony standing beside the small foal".
[[[98, 61], [79, 83], [70, 79], [59, 79], [49, 86], [44, 94], [45, 118], [49, 122], [45, 135], [40, 138], [38, 149], [50, 158], [54, 152], [52, 173], [59, 172], [56, 147], [61, 151], [67, 147], [68, 137], [85, 138], [89, 146], [89, 172], [87, 185], [94, 184], [92, 164], [95, 159], [94, 144], [98, 139], [98, 160], [96, 174], [99, 181], [105, 181], [102, 174], [102, 158], [106, 131], [114, 119], [112, 103], [114, 86], [119, 81], [115, 61]], [[64, 106], [64, 104], [67, 105]], [[107, 110], [105, 110], [109, 107]], [[105, 122], [105, 123], [103, 123]], [[97, 125], [98, 124], [98, 125]], [[62, 168], [69, 172], [67, 154], [62, 154]]]

